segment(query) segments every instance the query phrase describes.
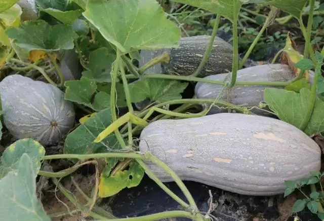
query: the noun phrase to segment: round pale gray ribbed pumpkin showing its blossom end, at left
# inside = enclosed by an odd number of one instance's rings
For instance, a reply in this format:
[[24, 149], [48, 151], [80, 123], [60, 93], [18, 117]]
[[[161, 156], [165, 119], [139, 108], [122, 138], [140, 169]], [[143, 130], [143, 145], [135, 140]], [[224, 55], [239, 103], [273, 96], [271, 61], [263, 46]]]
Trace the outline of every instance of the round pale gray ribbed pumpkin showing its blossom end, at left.
[[75, 119], [72, 102], [50, 84], [11, 75], [0, 82], [4, 124], [17, 139], [52, 145], [68, 133]]

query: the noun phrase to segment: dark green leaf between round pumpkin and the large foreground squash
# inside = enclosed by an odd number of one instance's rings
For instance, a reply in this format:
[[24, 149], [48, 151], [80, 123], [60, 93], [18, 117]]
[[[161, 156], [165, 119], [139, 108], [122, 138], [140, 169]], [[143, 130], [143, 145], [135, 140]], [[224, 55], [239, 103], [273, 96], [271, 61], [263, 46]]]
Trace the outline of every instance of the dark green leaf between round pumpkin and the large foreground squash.
[[120, 144], [113, 133], [102, 142], [93, 142], [99, 133], [110, 124], [110, 108], [101, 110], [67, 135], [64, 143], [64, 154], [95, 154], [120, 149]]

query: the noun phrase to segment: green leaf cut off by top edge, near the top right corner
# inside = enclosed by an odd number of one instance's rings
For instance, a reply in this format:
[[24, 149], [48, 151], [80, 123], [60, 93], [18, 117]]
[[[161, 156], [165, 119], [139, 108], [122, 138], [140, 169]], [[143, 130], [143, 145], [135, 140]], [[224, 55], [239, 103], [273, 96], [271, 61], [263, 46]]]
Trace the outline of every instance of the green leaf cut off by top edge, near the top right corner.
[[299, 19], [307, 0], [265, 0], [264, 2]]

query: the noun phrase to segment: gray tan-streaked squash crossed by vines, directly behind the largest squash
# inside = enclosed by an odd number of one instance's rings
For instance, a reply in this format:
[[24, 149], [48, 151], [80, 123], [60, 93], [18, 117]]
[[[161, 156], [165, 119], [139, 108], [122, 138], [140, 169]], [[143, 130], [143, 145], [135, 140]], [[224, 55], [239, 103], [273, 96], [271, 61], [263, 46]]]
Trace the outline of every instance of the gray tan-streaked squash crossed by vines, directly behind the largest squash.
[[[205, 79], [229, 81], [231, 74], [232, 72], [221, 73], [207, 76]], [[288, 82], [294, 78], [293, 71], [286, 64], [264, 64], [238, 70], [236, 81]], [[215, 99], [221, 92], [222, 87], [222, 85], [198, 82], [195, 86], [194, 93], [197, 98]], [[246, 107], [258, 106], [263, 101], [263, 91], [267, 87], [269, 86], [234, 86], [233, 88], [224, 89], [219, 99]], [[205, 104], [204, 106], [209, 106], [209, 104]], [[267, 107], [265, 109], [268, 110]], [[252, 109], [251, 111], [258, 115], [270, 115], [268, 112], [258, 109]], [[227, 112], [227, 109], [213, 106], [208, 114], [222, 112]]]

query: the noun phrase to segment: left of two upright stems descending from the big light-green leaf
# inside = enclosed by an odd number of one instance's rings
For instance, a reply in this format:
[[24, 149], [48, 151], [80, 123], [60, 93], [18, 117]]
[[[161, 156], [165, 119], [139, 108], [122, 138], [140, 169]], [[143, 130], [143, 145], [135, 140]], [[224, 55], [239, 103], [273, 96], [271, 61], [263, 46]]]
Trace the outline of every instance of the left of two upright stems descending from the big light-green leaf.
[[[111, 109], [111, 120], [112, 122], [117, 120], [117, 114], [116, 114], [116, 81], [117, 81], [117, 75], [118, 75], [118, 69], [119, 69], [119, 63], [122, 63], [120, 61], [120, 54], [119, 50], [116, 52], [116, 60], [114, 61], [113, 64], [113, 70], [112, 70], [112, 75], [111, 75], [111, 90], [110, 90], [110, 109]], [[121, 134], [118, 130], [118, 128], [114, 131], [116, 138], [121, 145], [122, 149], [126, 149], [126, 144], [121, 137]]]

